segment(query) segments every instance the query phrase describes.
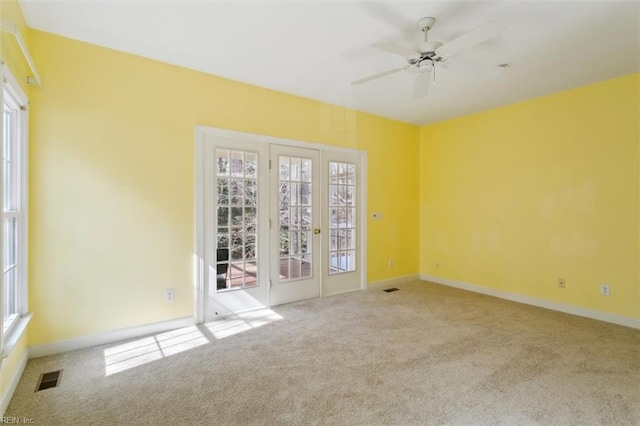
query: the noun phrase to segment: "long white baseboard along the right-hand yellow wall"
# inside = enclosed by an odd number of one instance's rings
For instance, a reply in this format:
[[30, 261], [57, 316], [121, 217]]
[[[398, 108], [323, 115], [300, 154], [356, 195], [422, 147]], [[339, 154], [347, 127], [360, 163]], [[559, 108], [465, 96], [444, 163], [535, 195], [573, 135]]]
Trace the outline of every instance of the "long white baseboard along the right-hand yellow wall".
[[462, 290], [473, 291], [474, 293], [486, 294], [487, 296], [498, 297], [500, 299], [511, 300], [512, 302], [524, 303], [540, 308], [551, 309], [553, 311], [564, 312], [566, 314], [577, 315], [580, 317], [591, 318], [599, 321], [610, 322], [613, 324], [624, 325], [625, 327], [640, 329], [640, 319], [629, 318], [622, 315], [610, 314], [608, 312], [596, 311], [594, 309], [583, 308], [575, 305], [567, 305], [550, 300], [538, 299], [536, 297], [523, 296], [521, 294], [509, 293], [493, 288], [482, 287], [477, 284], [469, 284], [461, 281], [450, 280], [448, 278], [436, 277], [434, 275], [420, 274], [420, 279], [436, 284], [442, 284], [449, 287], [456, 287]]

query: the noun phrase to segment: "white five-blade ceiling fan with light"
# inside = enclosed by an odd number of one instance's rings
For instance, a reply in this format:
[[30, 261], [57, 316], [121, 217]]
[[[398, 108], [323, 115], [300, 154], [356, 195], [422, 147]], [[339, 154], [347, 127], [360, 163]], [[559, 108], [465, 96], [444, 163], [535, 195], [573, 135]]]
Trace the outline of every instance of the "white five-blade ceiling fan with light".
[[429, 30], [433, 28], [435, 22], [436, 19], [432, 17], [422, 18], [418, 21], [418, 28], [424, 32], [424, 41], [420, 43], [418, 50], [407, 49], [406, 47], [389, 42], [372, 44], [371, 47], [375, 49], [404, 56], [407, 60], [407, 65], [361, 78], [351, 84], [357, 86], [413, 68], [416, 69], [418, 73], [413, 85], [412, 98], [421, 99], [427, 96], [430, 82], [432, 80], [435, 81], [437, 67], [445, 70], [455, 69], [472, 72], [482, 77], [498, 77], [508, 67], [508, 64], [493, 66], [452, 59], [452, 57], [459, 52], [500, 35], [502, 31], [504, 31], [504, 27], [501, 24], [487, 22], [443, 44], [439, 41], [429, 41], [428, 33]]

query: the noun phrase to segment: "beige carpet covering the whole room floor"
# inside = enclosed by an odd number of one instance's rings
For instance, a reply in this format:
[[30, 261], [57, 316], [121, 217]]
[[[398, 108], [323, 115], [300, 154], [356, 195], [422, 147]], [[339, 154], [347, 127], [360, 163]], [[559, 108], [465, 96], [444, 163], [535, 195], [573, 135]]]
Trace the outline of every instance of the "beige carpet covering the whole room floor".
[[[38, 425], [640, 424], [640, 331], [436, 284], [398, 287], [31, 360], [5, 415]], [[41, 373], [61, 368], [58, 388], [34, 393]]]

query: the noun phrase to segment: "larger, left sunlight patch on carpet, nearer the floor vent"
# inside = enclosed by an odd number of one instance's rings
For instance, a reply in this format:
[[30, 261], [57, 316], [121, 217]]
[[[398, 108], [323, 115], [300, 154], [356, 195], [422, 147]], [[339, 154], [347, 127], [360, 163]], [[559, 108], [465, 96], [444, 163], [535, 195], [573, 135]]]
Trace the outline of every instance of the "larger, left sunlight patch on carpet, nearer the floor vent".
[[104, 350], [105, 375], [120, 373], [207, 343], [209, 340], [204, 334], [196, 326], [190, 326], [112, 346]]

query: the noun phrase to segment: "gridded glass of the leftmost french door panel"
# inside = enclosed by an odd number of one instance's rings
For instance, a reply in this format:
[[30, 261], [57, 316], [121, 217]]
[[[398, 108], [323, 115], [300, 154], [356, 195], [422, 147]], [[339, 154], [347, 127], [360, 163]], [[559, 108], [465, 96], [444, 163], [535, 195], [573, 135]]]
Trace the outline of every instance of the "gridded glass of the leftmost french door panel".
[[215, 150], [217, 291], [258, 284], [258, 153]]

